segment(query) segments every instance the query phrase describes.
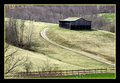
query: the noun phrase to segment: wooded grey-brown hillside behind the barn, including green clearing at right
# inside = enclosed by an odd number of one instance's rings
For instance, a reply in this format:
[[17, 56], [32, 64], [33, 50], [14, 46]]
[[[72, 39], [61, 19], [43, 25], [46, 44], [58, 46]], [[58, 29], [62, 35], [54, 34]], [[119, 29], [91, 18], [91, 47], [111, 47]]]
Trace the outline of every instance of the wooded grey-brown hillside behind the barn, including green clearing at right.
[[[59, 23], [60, 19], [82, 17], [92, 21], [92, 28], [115, 32], [115, 5], [43, 4], [5, 5], [5, 17]], [[103, 15], [103, 16], [101, 16]], [[110, 17], [110, 18], [108, 18]]]

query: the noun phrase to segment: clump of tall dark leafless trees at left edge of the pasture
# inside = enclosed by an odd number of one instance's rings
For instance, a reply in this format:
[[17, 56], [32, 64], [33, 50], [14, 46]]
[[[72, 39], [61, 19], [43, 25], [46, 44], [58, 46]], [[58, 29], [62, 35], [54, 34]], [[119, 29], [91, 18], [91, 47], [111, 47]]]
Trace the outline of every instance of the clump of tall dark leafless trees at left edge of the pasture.
[[[23, 32], [25, 21], [21, 20], [18, 25], [17, 19], [9, 18], [5, 23], [5, 40], [6, 42], [15, 46], [21, 47], [23, 45]], [[18, 31], [18, 26], [20, 31]]]

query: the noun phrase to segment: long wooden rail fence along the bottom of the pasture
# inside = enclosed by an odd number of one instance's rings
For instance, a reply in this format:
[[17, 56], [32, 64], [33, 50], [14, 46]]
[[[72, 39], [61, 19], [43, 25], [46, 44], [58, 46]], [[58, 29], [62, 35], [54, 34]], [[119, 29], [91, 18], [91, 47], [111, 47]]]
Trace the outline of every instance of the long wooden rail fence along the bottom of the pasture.
[[81, 69], [81, 70], [58, 70], [58, 71], [40, 71], [40, 72], [19, 72], [15, 75], [5, 77], [46, 77], [46, 76], [66, 76], [96, 73], [115, 73], [115, 69]]

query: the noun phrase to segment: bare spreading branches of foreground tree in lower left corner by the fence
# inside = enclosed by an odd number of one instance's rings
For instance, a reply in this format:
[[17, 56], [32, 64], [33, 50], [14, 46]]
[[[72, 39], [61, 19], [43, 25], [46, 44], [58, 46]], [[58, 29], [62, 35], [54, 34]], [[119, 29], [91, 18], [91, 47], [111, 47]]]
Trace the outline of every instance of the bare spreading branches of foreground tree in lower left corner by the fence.
[[[7, 53], [7, 51], [9, 50], [9, 45], [5, 46], [5, 54]], [[19, 66], [22, 66], [26, 61], [27, 58], [26, 57], [18, 57], [16, 55], [18, 50], [15, 50], [13, 52], [11, 52], [8, 55], [5, 55], [4, 57], [4, 64], [5, 64], [5, 71], [4, 74], [7, 75], [9, 73], [15, 72], [15, 69]]]

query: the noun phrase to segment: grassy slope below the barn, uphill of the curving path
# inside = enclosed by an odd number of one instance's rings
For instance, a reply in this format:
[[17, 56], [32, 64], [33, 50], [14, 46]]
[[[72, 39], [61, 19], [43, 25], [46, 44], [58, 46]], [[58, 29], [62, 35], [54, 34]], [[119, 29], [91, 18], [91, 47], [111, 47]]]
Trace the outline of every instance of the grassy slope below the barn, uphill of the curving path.
[[90, 52], [114, 62], [114, 33], [102, 30], [74, 31], [56, 25], [48, 30], [47, 36], [63, 46]]

